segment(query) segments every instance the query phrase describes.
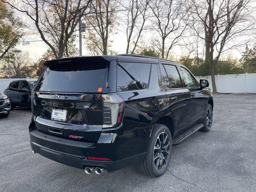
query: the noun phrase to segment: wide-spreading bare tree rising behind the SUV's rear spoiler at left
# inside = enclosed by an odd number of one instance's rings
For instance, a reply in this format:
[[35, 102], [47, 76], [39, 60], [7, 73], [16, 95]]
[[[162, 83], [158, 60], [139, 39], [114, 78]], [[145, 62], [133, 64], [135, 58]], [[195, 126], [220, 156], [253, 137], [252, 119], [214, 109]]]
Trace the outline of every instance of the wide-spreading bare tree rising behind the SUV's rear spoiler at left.
[[26, 14], [56, 58], [62, 58], [70, 38], [92, 0], [2, 0]]

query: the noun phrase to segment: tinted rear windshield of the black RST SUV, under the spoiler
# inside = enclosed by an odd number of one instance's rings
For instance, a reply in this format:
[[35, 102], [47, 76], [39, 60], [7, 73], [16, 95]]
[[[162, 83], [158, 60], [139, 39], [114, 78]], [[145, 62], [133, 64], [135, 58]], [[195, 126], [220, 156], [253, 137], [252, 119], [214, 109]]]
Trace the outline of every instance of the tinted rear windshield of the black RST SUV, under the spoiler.
[[103, 88], [108, 62], [76, 62], [49, 66], [36, 84], [36, 91], [98, 92]]

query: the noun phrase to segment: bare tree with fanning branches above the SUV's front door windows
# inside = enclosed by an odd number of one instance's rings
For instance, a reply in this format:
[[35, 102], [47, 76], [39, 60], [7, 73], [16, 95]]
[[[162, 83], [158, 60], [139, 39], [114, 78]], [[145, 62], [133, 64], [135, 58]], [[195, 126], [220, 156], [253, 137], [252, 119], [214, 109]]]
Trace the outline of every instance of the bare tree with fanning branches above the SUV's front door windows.
[[170, 50], [177, 45], [188, 26], [188, 11], [185, 0], [151, 0], [153, 13], [152, 30], [161, 37], [158, 47], [162, 58], [168, 58]]

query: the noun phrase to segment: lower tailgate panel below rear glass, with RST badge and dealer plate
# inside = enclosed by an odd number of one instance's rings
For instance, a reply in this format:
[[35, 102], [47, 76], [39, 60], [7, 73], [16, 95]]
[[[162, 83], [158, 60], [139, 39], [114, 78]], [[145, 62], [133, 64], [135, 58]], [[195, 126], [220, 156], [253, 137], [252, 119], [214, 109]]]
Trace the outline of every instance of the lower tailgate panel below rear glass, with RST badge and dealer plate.
[[[52, 97], [59, 96], [55, 99]], [[97, 142], [102, 129], [101, 94], [55, 94], [36, 92], [36, 128], [71, 140]], [[54, 116], [61, 111], [64, 118]]]

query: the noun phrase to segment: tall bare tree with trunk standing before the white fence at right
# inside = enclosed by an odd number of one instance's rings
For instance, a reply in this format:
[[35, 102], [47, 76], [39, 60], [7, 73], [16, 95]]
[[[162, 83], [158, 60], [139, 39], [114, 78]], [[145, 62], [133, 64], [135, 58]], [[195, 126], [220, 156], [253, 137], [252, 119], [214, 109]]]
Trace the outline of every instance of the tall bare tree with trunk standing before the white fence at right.
[[[252, 0], [192, 0], [192, 28], [205, 40], [205, 60], [210, 62], [213, 92], [216, 93], [215, 65], [220, 55], [246, 44], [254, 28]], [[198, 30], [200, 28], [200, 30]]]

